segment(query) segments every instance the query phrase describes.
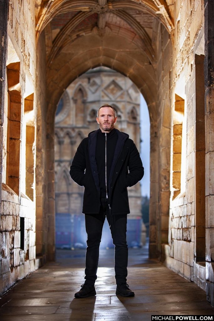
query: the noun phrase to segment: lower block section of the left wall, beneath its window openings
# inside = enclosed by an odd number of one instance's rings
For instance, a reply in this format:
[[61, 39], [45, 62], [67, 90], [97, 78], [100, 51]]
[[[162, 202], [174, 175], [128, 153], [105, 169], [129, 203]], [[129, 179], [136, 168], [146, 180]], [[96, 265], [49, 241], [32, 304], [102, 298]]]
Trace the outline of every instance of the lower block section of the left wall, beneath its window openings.
[[2, 184], [0, 292], [39, 267], [35, 247], [35, 208], [27, 198], [18, 197]]

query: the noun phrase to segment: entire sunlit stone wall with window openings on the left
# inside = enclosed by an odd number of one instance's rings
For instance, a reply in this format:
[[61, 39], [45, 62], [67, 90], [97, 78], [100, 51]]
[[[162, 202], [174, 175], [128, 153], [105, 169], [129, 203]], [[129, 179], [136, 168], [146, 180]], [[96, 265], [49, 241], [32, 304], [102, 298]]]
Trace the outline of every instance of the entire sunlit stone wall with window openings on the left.
[[[0, 82], [4, 93], [0, 146], [2, 293], [40, 265], [36, 258], [36, 117], [45, 78], [41, 77], [43, 71], [39, 73], [43, 49], [36, 56], [34, 1], [1, 1], [0, 4], [4, 15], [0, 25], [1, 44], [5, 42], [7, 48], [1, 50], [4, 82]], [[39, 85], [38, 79], [41, 79]]]

